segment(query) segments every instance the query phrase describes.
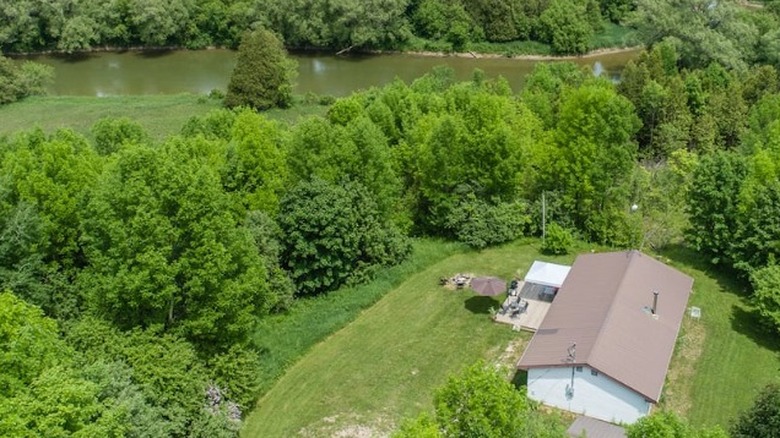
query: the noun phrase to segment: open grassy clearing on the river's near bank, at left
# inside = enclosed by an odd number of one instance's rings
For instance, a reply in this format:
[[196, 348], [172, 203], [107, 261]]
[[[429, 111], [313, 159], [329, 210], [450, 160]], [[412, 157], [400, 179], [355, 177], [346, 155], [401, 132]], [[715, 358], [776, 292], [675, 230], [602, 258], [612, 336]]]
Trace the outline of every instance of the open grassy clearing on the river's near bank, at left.
[[[39, 96], [0, 106], [0, 135], [70, 128], [90, 136], [92, 125], [104, 117], [129, 117], [140, 123], [155, 140], [176, 134], [190, 117], [220, 108], [219, 100], [195, 94], [141, 96]], [[298, 103], [286, 110], [271, 110], [272, 119], [293, 123], [300, 117], [324, 114], [327, 107]]]

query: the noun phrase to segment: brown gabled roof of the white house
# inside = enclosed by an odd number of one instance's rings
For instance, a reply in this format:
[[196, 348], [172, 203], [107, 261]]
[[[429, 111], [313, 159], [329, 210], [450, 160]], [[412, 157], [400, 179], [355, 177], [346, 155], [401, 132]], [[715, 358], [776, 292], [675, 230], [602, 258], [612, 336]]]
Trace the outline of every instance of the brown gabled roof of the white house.
[[639, 251], [580, 255], [517, 366], [588, 365], [657, 403], [692, 286]]

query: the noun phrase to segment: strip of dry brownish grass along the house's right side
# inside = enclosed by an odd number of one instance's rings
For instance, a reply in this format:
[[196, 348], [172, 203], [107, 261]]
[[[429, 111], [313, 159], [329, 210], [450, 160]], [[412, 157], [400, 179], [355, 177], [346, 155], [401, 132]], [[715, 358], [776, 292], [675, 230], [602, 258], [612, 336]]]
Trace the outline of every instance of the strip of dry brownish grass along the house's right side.
[[696, 363], [704, 351], [707, 332], [699, 320], [686, 317], [677, 340], [674, 357], [666, 374], [661, 407], [685, 416], [691, 408], [691, 391]]

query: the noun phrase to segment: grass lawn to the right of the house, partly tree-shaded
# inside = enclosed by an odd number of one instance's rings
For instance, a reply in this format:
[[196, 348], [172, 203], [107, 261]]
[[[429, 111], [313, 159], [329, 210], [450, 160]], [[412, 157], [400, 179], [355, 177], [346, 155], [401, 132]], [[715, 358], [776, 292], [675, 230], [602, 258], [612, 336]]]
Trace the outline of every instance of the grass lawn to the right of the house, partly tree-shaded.
[[689, 305], [702, 309], [700, 320], [684, 322], [664, 407], [694, 425], [727, 428], [764, 385], [777, 381], [780, 340], [762, 330], [743, 283], [692, 251], [674, 248], [663, 255], [694, 278]]

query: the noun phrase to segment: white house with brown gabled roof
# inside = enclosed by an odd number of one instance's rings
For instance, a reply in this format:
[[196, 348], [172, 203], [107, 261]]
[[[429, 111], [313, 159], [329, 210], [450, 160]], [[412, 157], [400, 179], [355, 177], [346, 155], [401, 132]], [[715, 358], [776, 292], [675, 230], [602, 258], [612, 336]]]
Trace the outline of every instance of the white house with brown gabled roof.
[[649, 414], [692, 286], [639, 251], [577, 257], [518, 362], [528, 396], [610, 422]]

